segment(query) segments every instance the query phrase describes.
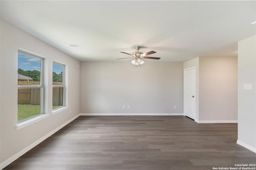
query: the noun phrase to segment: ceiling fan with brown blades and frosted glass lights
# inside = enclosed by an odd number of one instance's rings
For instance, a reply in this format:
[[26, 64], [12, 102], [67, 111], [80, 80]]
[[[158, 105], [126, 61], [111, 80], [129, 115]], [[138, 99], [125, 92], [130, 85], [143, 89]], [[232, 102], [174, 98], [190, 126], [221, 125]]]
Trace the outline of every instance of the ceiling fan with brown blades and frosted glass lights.
[[[149, 51], [148, 53], [142, 53], [142, 52], [139, 52], [140, 46], [137, 46], [136, 49], [138, 51], [136, 51], [132, 54], [129, 54], [126, 52], [120, 52], [120, 53], [124, 53], [124, 54], [128, 54], [128, 55], [132, 56], [132, 57], [121, 58], [121, 59], [133, 59], [132, 64], [139, 66], [139, 68], [140, 68], [140, 65], [144, 63], [144, 61], [142, 59], [155, 59], [155, 60], [160, 59], [159, 57], [147, 57], [146, 56], [146, 55], [154, 54], [154, 53], [156, 53], [156, 51]], [[119, 59], [117, 59], [117, 60], [119, 60]]]

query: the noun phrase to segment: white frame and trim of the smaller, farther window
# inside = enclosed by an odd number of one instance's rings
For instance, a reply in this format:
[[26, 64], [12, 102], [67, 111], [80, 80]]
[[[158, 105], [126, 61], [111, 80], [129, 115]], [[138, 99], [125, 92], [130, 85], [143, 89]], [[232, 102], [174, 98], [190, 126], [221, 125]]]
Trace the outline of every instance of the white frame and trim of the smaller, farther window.
[[56, 88], [56, 87], [62, 87], [63, 88], [63, 99], [62, 99], [63, 100], [62, 101], [63, 106], [58, 107], [56, 109], [52, 109], [52, 115], [55, 115], [57, 113], [60, 113], [60, 111], [65, 110], [65, 109], [67, 109], [69, 107], [67, 106], [67, 102], [66, 102], [66, 64], [60, 63], [58, 61], [52, 61], [52, 64], [58, 64], [58, 65], [62, 65], [63, 66], [63, 70], [62, 70], [62, 85], [52, 85], [52, 89]]

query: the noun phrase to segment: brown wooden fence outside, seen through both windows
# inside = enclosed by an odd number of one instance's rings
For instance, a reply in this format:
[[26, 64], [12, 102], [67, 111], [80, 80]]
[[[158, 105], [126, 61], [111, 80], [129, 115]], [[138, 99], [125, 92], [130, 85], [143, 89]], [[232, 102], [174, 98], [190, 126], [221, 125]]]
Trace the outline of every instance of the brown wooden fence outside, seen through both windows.
[[[39, 85], [40, 82], [18, 81], [18, 85]], [[62, 82], [53, 82], [54, 85], [62, 85]], [[63, 87], [52, 89], [52, 105], [63, 106]], [[18, 104], [40, 105], [40, 88], [20, 88], [18, 89]]]

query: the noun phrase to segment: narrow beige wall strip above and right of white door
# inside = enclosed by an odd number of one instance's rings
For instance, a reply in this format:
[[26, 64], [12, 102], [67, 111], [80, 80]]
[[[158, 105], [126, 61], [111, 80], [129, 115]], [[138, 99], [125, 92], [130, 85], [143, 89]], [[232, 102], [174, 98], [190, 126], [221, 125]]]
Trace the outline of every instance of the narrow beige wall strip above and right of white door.
[[190, 67], [195, 67], [196, 71], [196, 117], [195, 121], [198, 122], [199, 120], [199, 57], [196, 57], [192, 60], [186, 61], [183, 63], [183, 69], [185, 68], [190, 68]]

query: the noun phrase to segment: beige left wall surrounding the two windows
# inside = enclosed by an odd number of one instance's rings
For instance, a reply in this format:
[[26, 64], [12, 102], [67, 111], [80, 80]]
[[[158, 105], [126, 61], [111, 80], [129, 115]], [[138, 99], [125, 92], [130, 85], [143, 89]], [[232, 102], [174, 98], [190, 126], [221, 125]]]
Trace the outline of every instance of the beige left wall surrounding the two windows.
[[[1, 122], [0, 162], [4, 162], [79, 113], [80, 61], [47, 45], [20, 29], [1, 21]], [[45, 112], [52, 113], [52, 61], [67, 64], [68, 106], [32, 125], [16, 130], [18, 48], [45, 57]], [[4, 100], [2, 100], [4, 97]], [[71, 112], [71, 113], [69, 113]]]

